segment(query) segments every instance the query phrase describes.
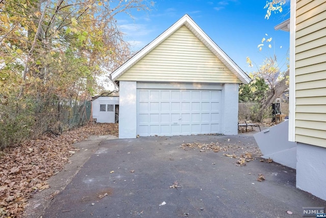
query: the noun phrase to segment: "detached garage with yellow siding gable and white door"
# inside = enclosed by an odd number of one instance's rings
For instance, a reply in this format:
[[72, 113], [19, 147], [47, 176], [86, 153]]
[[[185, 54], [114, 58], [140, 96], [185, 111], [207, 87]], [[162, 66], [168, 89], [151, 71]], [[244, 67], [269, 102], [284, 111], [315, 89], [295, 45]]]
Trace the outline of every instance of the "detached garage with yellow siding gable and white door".
[[119, 138], [236, 135], [238, 87], [250, 78], [188, 15], [112, 74]]

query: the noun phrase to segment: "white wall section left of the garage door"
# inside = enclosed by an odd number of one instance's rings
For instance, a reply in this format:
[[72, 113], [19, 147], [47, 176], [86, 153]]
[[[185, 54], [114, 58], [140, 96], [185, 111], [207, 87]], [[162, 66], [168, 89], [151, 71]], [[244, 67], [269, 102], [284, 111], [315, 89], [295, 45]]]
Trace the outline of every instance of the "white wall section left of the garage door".
[[137, 82], [119, 82], [119, 138], [137, 135]]

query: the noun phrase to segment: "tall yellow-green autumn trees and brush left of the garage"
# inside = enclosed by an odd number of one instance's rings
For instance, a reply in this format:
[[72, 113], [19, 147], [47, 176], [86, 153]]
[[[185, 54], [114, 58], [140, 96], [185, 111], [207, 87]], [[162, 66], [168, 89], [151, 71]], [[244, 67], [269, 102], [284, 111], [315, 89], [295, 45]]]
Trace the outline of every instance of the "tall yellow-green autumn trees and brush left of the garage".
[[130, 56], [115, 16], [147, 10], [146, 3], [2, 1], [0, 146], [57, 129], [58, 105], [72, 108], [99, 91], [97, 77]]

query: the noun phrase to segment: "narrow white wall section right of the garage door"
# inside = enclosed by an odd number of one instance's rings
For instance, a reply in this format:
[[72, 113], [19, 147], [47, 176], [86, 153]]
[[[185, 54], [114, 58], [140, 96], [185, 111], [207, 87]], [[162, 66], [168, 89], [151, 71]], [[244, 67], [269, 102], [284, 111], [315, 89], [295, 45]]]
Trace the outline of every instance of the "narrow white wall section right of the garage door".
[[222, 133], [238, 134], [239, 84], [226, 83], [223, 88]]

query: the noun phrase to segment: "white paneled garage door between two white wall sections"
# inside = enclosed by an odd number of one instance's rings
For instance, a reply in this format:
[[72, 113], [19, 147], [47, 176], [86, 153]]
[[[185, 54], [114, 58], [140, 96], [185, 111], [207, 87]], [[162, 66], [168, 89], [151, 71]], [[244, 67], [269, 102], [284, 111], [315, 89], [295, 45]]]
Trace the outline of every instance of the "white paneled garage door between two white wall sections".
[[137, 134], [221, 133], [221, 90], [137, 89]]

